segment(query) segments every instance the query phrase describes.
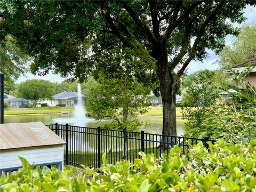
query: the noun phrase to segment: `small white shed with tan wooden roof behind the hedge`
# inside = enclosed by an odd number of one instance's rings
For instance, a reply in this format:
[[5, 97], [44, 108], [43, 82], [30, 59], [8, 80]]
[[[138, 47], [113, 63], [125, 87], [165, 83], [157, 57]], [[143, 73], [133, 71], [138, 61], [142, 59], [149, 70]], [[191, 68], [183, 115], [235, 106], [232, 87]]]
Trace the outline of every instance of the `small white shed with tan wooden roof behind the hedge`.
[[0, 124], [0, 141], [0, 175], [22, 167], [19, 156], [41, 168], [63, 169], [66, 142], [41, 122]]

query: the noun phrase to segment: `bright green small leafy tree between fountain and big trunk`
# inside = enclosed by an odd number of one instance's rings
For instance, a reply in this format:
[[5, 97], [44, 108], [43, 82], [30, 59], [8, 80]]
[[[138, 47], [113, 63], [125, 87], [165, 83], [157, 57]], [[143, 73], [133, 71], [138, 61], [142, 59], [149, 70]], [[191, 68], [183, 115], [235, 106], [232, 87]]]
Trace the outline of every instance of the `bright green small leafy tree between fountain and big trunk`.
[[90, 117], [101, 121], [112, 119], [106, 126], [118, 130], [137, 130], [142, 123], [138, 114], [147, 112], [146, 98], [150, 89], [136, 81], [101, 78], [91, 90], [86, 110]]

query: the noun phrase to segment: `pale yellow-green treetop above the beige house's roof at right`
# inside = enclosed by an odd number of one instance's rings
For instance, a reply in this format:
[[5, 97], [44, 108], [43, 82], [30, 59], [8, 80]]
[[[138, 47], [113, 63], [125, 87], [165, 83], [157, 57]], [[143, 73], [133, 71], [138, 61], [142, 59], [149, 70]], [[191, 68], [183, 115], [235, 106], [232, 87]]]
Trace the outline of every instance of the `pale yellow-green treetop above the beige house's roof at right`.
[[229, 69], [243, 61], [256, 57], [256, 25], [244, 25], [231, 46], [220, 53], [217, 63]]

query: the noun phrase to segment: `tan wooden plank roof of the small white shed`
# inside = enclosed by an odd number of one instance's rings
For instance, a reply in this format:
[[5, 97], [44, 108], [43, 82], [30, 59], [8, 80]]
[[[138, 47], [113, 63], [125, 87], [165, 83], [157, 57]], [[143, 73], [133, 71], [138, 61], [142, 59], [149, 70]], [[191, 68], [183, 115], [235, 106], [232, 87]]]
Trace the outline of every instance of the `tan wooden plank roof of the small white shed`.
[[65, 144], [42, 122], [0, 124], [0, 150]]

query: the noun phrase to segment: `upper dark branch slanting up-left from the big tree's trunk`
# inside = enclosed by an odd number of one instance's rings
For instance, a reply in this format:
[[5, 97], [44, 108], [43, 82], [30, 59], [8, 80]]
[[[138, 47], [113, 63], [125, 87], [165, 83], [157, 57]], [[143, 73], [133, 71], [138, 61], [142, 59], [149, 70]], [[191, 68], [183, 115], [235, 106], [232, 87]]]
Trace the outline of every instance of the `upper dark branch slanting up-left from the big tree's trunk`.
[[130, 16], [135, 21], [135, 23], [147, 34], [151, 43], [158, 44], [159, 41], [156, 39], [154, 34], [151, 33], [149, 27], [139, 19], [136, 13], [132, 10], [131, 5], [129, 3], [123, 3], [123, 5], [124, 5], [124, 9], [130, 14]]

